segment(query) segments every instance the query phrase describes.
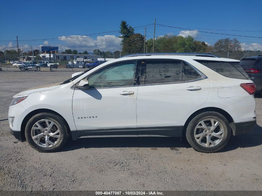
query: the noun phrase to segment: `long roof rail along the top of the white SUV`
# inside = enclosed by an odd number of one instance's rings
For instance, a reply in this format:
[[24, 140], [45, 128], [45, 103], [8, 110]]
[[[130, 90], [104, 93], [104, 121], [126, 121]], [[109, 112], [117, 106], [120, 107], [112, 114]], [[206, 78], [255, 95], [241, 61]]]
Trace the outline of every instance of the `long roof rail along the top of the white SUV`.
[[[184, 56], [203, 56], [203, 57], [215, 57], [220, 58], [219, 56], [216, 56], [214, 54], [210, 53], [182, 53], [182, 52], [168, 52], [168, 53], [138, 53], [138, 54], [128, 54], [123, 57], [133, 57], [133, 56], [153, 56], [153, 55], [184, 55]], [[123, 58], [121, 57], [121, 58]]]

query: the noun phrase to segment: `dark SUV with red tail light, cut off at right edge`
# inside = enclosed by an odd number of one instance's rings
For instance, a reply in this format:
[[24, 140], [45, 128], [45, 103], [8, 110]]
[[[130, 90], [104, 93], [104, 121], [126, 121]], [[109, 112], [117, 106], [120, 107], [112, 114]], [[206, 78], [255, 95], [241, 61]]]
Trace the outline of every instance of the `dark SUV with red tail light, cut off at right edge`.
[[255, 83], [256, 92], [262, 94], [262, 55], [244, 58], [240, 65]]

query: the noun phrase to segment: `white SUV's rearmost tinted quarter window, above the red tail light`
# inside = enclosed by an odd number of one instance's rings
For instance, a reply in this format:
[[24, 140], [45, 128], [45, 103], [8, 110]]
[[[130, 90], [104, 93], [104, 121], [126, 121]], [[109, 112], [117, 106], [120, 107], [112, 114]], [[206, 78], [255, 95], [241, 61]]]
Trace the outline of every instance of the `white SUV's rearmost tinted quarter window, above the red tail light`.
[[239, 62], [195, 60], [213, 71], [229, 78], [249, 79]]

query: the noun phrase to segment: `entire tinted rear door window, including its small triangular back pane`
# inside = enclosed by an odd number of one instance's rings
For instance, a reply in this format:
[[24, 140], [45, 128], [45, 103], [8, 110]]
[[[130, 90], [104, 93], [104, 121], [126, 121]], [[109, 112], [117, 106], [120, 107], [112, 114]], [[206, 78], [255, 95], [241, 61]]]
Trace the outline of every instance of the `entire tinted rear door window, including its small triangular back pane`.
[[[143, 76], [141, 79], [142, 78]], [[201, 78], [200, 74], [183, 61], [146, 60], [144, 84], [184, 82], [198, 78]], [[141, 81], [140, 84], [143, 84], [143, 81]]]

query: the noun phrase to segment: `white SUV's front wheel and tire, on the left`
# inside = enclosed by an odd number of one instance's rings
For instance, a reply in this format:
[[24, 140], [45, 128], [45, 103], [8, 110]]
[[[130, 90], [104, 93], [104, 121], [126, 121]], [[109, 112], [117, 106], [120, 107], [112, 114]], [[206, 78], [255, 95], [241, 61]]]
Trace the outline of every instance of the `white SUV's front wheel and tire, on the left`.
[[[53, 125], [49, 129], [48, 125], [50, 126], [52, 122]], [[41, 127], [41, 129], [36, 129], [39, 127]], [[65, 120], [61, 116], [43, 112], [34, 115], [27, 122], [25, 126], [25, 137], [29, 145], [38, 152], [57, 152], [67, 143], [70, 137], [70, 131]], [[33, 137], [35, 138], [33, 139]]]

